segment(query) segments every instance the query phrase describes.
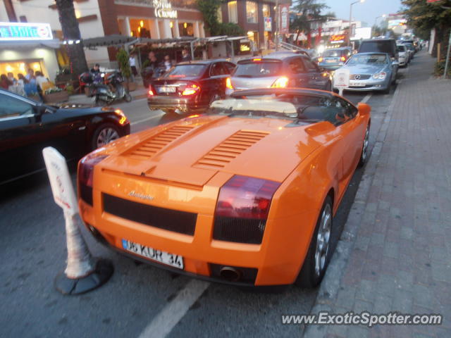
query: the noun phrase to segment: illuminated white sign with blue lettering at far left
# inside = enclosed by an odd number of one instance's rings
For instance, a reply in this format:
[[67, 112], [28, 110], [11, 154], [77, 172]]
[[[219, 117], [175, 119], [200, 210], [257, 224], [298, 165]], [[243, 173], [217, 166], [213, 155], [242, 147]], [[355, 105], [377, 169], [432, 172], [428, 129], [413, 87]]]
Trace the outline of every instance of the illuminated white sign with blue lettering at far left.
[[0, 41], [51, 39], [48, 23], [0, 23]]

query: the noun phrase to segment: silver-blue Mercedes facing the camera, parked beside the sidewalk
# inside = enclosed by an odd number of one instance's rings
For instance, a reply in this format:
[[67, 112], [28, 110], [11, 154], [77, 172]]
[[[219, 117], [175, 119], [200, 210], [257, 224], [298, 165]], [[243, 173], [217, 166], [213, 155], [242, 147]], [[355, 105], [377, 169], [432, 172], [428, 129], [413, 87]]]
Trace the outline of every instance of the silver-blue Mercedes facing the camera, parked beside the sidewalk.
[[395, 82], [392, 61], [385, 53], [354, 54], [342, 68], [350, 70], [350, 87], [346, 90], [374, 90], [388, 94]]

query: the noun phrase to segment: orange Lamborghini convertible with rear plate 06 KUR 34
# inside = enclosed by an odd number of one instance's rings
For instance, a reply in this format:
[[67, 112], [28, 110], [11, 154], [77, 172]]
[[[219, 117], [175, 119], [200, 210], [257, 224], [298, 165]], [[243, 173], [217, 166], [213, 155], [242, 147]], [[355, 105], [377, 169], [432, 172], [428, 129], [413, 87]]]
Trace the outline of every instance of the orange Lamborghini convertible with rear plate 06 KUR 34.
[[319, 90], [235, 92], [82, 158], [80, 215], [100, 242], [161, 268], [315, 287], [370, 111]]

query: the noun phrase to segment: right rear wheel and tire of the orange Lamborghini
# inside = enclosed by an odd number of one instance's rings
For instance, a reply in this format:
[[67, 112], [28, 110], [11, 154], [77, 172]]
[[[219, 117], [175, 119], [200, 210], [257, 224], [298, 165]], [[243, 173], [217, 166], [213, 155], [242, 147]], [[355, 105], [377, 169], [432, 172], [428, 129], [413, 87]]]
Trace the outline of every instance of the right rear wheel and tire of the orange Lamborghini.
[[[333, 206], [330, 196], [326, 197], [313, 236], [311, 237], [309, 251], [305, 257], [302, 269], [297, 276], [295, 284], [298, 287], [314, 288], [323, 280], [324, 273], [330, 261], [330, 248], [333, 247], [332, 239], [333, 229]], [[319, 243], [319, 239], [323, 246]]]

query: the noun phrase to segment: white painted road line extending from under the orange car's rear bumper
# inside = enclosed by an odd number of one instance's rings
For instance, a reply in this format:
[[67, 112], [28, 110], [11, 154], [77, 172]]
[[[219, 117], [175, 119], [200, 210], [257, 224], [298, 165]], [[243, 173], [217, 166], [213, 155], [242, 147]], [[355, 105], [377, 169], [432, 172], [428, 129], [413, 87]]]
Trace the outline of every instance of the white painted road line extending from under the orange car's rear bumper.
[[139, 338], [166, 337], [209, 285], [202, 280], [191, 280], [147, 325]]

